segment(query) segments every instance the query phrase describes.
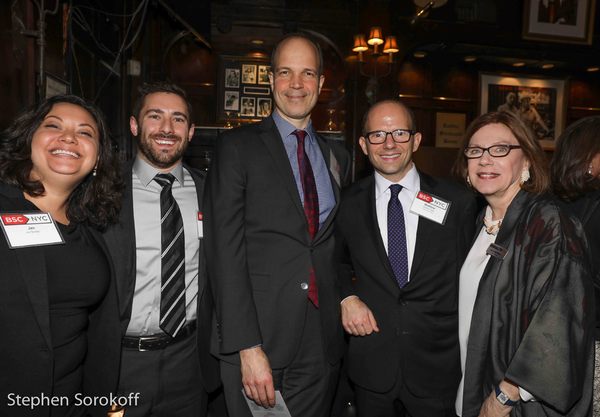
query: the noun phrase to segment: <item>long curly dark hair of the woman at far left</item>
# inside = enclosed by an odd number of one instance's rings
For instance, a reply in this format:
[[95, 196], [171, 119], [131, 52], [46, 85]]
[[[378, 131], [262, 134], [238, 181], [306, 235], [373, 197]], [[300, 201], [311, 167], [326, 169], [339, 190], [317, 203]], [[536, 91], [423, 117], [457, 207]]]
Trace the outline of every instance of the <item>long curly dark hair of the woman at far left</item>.
[[67, 202], [67, 217], [71, 221], [87, 223], [103, 230], [118, 220], [123, 181], [102, 112], [80, 97], [57, 95], [47, 98], [21, 114], [0, 133], [0, 181], [14, 185], [31, 196], [44, 194], [43, 184], [30, 177], [33, 168], [31, 142], [46, 115], [58, 103], [70, 103], [83, 108], [98, 127], [96, 175], [87, 175], [73, 190]]

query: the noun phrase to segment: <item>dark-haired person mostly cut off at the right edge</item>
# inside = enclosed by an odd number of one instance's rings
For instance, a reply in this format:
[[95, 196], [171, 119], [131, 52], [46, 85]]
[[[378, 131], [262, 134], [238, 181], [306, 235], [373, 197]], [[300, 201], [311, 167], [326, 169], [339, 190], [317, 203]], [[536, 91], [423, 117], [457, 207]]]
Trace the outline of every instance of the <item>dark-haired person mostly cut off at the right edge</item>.
[[550, 172], [554, 194], [581, 221], [592, 254], [596, 290], [594, 415], [600, 415], [600, 116], [578, 120], [560, 135]]

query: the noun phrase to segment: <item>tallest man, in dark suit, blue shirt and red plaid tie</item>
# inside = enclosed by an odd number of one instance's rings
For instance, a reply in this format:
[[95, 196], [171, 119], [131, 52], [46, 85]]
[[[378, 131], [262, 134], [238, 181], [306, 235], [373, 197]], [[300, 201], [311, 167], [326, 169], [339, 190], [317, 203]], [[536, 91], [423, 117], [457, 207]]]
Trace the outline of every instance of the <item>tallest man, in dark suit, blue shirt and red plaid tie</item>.
[[343, 348], [333, 217], [341, 155], [310, 113], [323, 85], [317, 44], [274, 49], [275, 110], [223, 134], [208, 174], [205, 220], [216, 344], [229, 414], [250, 416], [280, 390], [293, 416], [328, 416]]

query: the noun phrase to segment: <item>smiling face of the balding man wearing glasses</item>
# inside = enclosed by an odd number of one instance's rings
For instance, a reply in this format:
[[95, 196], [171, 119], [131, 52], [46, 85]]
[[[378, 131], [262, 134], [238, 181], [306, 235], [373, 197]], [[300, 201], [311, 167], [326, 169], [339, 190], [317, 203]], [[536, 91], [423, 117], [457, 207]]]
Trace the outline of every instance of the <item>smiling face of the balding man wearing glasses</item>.
[[[392, 132], [396, 129], [413, 129], [409, 113], [402, 104], [395, 101], [383, 101], [375, 104], [367, 115], [366, 132], [383, 130]], [[358, 140], [360, 147], [373, 168], [384, 178], [399, 182], [412, 166], [412, 154], [419, 149], [421, 134], [415, 133], [408, 142], [396, 143], [392, 135], [387, 135], [385, 142], [372, 144], [361, 136]]]

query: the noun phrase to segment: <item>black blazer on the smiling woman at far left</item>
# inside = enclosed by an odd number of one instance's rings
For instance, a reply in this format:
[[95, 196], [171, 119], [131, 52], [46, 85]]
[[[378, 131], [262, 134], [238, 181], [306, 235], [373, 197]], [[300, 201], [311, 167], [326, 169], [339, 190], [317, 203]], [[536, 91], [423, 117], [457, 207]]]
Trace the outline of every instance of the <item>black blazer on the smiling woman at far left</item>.
[[[0, 212], [30, 210], [23, 192], [0, 184]], [[101, 235], [89, 229], [104, 250]], [[0, 234], [0, 415], [48, 416], [49, 408], [8, 407], [7, 395], [52, 395], [53, 353], [44, 246], [9, 249]], [[65, 254], [68, 257], [68, 254]], [[111, 283], [100, 305], [90, 313], [84, 360], [84, 395], [108, 396], [117, 389], [121, 336], [115, 290]], [[14, 398], [14, 397], [13, 397]], [[106, 408], [89, 410], [106, 416]]]

